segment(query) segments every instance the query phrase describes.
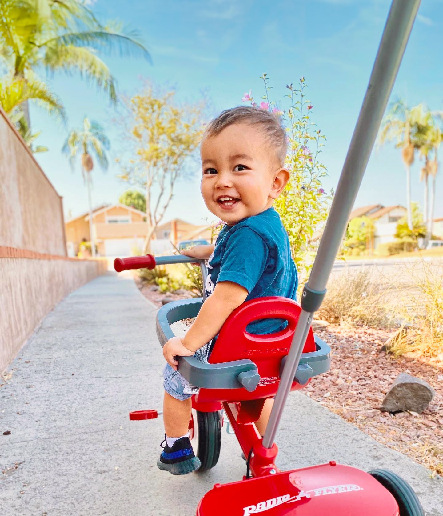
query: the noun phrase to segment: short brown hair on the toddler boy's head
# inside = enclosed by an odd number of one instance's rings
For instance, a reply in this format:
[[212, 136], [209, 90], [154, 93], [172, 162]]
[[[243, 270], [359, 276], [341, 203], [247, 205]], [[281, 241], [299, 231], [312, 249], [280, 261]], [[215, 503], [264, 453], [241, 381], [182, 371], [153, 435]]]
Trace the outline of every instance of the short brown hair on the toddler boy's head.
[[286, 132], [282, 126], [280, 117], [266, 109], [253, 106], [237, 106], [231, 109], [225, 109], [217, 118], [209, 123], [206, 127], [204, 137], [216, 136], [221, 133], [225, 127], [241, 123], [260, 125], [261, 130], [264, 131], [273, 148], [275, 148], [278, 163], [281, 167], [284, 167], [288, 148]]

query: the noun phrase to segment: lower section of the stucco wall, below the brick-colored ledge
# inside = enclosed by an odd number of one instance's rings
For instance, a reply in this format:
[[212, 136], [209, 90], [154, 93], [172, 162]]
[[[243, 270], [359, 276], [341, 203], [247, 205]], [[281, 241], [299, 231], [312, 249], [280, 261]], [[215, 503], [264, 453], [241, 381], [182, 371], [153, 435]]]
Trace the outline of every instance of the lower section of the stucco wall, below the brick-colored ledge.
[[59, 301], [106, 270], [105, 259], [0, 258], [0, 373]]

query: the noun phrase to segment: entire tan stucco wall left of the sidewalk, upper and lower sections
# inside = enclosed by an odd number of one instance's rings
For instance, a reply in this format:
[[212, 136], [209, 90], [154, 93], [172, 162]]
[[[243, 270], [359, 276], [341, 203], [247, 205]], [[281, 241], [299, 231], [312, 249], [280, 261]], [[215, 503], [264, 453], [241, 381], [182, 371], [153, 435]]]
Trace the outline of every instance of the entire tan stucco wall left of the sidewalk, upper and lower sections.
[[0, 373], [48, 311], [106, 270], [67, 257], [62, 199], [0, 109]]

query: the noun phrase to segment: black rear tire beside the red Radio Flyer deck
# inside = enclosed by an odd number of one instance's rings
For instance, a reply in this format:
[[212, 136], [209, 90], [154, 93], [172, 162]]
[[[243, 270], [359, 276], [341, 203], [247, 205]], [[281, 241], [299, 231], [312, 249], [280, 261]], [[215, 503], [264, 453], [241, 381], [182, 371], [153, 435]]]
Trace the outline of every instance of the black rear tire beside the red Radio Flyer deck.
[[406, 480], [389, 470], [372, 470], [368, 473], [396, 499], [400, 516], [424, 516], [420, 501]]

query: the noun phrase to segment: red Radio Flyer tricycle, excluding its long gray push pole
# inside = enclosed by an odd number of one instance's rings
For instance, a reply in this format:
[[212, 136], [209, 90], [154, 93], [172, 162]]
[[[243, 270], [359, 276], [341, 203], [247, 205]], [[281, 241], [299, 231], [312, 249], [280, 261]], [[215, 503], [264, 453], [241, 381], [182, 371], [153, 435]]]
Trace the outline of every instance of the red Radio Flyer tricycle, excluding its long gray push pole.
[[[146, 255], [118, 258], [114, 261], [114, 268], [120, 272], [187, 262], [195, 262], [195, 258]], [[205, 278], [205, 263], [200, 262], [200, 266]], [[174, 322], [195, 317], [202, 303], [202, 298], [193, 298], [173, 301], [160, 308], [156, 319], [160, 344], [174, 336], [171, 329]], [[194, 357], [177, 357], [180, 373], [200, 388], [192, 397], [189, 422], [192, 447], [202, 463], [199, 471], [209, 470], [217, 464], [223, 410], [247, 460], [247, 474], [243, 480], [216, 484], [201, 499], [197, 516], [248, 516], [265, 511], [269, 511], [270, 516], [422, 516], [413, 490], [392, 472], [375, 470], [364, 473], [334, 461], [287, 472], [281, 472], [275, 465], [277, 446], [273, 438], [271, 441], [266, 439], [268, 431], [280, 419], [281, 402], [276, 398], [264, 439], [261, 439], [254, 423], [265, 400], [277, 394], [301, 311], [298, 303], [281, 297], [245, 302], [223, 325], [209, 363], [202, 363]], [[266, 318], [286, 319], [288, 325], [272, 335], [251, 335], [246, 331], [250, 322]], [[330, 354], [330, 347], [309, 327], [290, 390], [302, 389], [313, 376], [327, 372]], [[141, 410], [130, 413], [130, 418], [151, 419], [157, 414], [155, 410]]]

